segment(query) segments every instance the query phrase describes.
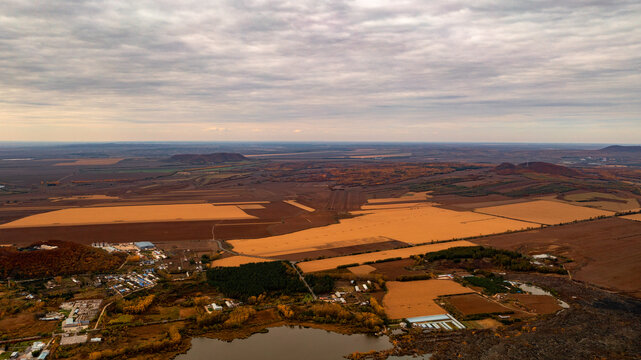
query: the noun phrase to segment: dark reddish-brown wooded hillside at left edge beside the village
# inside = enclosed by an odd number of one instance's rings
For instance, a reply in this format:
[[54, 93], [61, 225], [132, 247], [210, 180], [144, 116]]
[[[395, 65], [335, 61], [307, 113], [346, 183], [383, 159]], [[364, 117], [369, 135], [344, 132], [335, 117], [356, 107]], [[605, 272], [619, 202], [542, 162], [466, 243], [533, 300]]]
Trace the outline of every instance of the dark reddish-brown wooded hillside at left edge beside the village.
[[66, 241], [51, 240], [31, 245], [57, 246], [52, 250], [18, 250], [0, 248], [0, 276], [28, 279], [87, 272], [103, 272], [118, 268], [126, 255], [108, 252], [90, 246]]

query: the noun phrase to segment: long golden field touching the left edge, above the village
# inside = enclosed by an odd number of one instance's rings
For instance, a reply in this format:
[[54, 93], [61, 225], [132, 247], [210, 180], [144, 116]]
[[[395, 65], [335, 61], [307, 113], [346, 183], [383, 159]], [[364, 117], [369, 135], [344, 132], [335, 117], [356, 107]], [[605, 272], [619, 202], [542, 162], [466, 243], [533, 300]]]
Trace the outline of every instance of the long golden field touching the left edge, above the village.
[[70, 208], [51, 211], [0, 225], [9, 227], [37, 227], [58, 225], [110, 224], [158, 221], [255, 219], [237, 206], [210, 204], [105, 206]]

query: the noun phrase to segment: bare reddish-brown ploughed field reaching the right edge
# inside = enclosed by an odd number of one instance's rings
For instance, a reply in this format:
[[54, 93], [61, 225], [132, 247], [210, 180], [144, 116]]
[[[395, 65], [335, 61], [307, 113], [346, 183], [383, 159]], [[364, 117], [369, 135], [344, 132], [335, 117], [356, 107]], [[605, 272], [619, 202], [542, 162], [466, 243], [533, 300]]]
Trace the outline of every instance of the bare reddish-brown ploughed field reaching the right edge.
[[598, 219], [476, 239], [479, 245], [568, 257], [572, 278], [641, 297], [641, 222]]

